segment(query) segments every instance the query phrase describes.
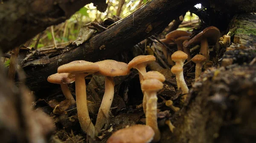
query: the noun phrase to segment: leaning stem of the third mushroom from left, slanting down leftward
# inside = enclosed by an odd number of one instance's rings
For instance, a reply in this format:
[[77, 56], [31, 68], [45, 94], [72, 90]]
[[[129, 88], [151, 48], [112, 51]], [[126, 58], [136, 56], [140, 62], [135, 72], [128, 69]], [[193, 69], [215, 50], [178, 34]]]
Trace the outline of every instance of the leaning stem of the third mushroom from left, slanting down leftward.
[[102, 127], [108, 123], [109, 112], [114, 97], [114, 80], [110, 76], [105, 76], [105, 93], [103, 95], [102, 103], [99, 107], [99, 113], [95, 124], [95, 133], [98, 135]]

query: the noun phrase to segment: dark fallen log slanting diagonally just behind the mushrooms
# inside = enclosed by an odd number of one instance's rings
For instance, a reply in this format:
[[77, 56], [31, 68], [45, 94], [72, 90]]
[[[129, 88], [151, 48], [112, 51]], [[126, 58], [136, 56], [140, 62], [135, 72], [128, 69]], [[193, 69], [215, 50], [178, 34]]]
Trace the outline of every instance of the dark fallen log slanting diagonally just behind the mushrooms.
[[162, 31], [170, 21], [197, 2], [200, 0], [153, 0], [122, 22], [94, 36], [74, 50], [50, 58], [49, 64], [24, 67], [27, 75], [26, 84], [36, 94], [45, 95], [45, 89], [50, 91], [53, 87], [47, 82], [47, 77], [56, 73], [58, 66], [74, 60], [96, 62], [99, 59], [109, 59], [156, 31]]

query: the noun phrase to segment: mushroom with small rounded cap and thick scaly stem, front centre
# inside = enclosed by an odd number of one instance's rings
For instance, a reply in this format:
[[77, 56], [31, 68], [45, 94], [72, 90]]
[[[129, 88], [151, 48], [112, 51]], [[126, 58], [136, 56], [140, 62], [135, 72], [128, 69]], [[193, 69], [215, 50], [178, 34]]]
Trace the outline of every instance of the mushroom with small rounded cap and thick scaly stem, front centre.
[[163, 83], [157, 79], [145, 79], [141, 84], [141, 89], [147, 96], [146, 125], [151, 126], [155, 132], [153, 143], [160, 140], [160, 131], [157, 126], [157, 91], [162, 88]]

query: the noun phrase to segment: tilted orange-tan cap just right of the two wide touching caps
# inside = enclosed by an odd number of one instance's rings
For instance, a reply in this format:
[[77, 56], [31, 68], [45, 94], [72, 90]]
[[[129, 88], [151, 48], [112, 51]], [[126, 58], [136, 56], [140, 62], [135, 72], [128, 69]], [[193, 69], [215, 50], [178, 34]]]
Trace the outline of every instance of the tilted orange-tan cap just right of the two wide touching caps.
[[156, 57], [153, 55], [140, 55], [136, 56], [134, 59], [132, 59], [128, 63], [128, 69], [131, 70], [131, 68], [134, 68], [137, 64], [149, 64], [151, 62], [154, 62], [156, 60]]

